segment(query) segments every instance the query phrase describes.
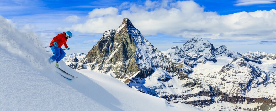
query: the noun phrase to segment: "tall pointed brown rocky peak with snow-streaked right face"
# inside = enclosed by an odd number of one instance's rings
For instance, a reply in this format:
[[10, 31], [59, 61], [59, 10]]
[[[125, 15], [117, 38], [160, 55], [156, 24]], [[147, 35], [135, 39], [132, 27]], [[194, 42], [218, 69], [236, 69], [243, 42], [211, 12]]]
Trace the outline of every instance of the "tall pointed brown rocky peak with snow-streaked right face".
[[[161, 51], [154, 48], [128, 18], [117, 30], [106, 31], [81, 63], [90, 70], [110, 73], [126, 84], [129, 79], [139, 82], [156, 72], [157, 68], [188, 78], [185, 70], [176, 68]], [[81, 65], [77, 69], [83, 68]], [[167, 73], [160, 74], [171, 76]]]

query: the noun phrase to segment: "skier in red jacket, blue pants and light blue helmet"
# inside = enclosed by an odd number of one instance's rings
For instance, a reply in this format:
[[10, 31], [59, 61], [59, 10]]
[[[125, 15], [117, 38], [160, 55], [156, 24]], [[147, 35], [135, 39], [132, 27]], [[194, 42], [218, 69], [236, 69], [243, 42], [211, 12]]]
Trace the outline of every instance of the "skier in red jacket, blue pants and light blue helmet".
[[56, 61], [56, 66], [59, 67], [59, 61], [65, 56], [65, 52], [61, 48], [61, 46], [64, 44], [65, 48], [70, 50], [67, 46], [67, 39], [72, 37], [72, 33], [70, 31], [60, 33], [56, 35], [53, 40], [50, 43], [50, 48], [53, 51], [53, 56], [50, 57], [48, 60], [50, 63], [53, 63]]

